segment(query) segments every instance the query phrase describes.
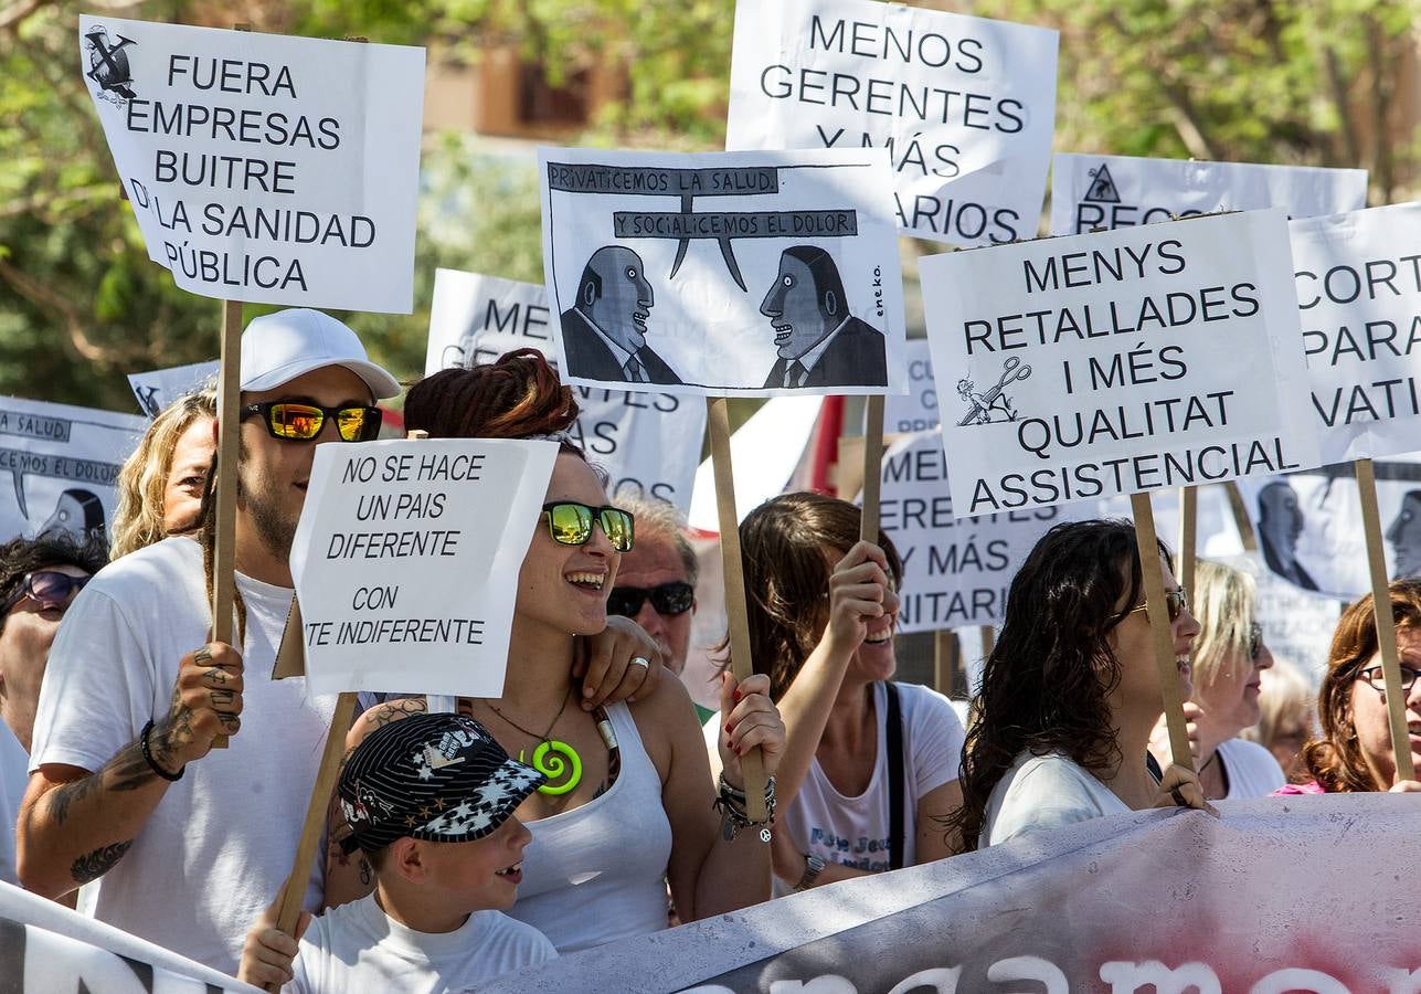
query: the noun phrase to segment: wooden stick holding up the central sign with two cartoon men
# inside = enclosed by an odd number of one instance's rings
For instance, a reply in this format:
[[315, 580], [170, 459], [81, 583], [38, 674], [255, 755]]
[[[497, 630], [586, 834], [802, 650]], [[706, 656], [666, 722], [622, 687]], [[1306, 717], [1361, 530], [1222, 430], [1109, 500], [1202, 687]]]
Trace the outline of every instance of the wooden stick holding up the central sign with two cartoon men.
[[[725, 567], [725, 616], [730, 630], [730, 673], [746, 680], [750, 664], [750, 616], [745, 604], [745, 563], [740, 560], [740, 518], [735, 511], [735, 475], [730, 471], [730, 415], [723, 397], [706, 398], [710, 429], [710, 465], [715, 471], [715, 503], [720, 520], [720, 563]], [[767, 818], [764, 764], [759, 748], [740, 757], [745, 774], [745, 811], [752, 822]]]

